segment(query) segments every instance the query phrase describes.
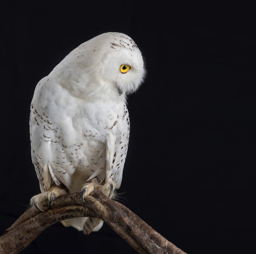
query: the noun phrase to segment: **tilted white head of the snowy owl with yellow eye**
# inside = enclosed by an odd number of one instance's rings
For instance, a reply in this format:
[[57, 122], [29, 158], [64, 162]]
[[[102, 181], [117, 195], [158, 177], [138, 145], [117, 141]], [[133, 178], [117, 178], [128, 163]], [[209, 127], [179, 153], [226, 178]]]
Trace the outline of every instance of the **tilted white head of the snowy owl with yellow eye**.
[[145, 75], [143, 57], [135, 42], [116, 32], [84, 42], [53, 72], [58, 73], [62, 86], [72, 95], [87, 99], [114, 99], [132, 93]]

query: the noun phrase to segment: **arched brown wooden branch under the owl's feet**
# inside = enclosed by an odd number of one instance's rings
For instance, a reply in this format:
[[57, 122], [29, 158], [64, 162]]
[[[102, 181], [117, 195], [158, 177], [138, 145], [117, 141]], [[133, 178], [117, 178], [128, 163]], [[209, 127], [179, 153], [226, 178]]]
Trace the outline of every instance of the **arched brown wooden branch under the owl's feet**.
[[65, 219], [97, 217], [105, 221], [117, 234], [141, 254], [185, 254], [166, 240], [126, 206], [109, 199], [100, 192], [81, 199], [81, 193], [67, 194], [43, 203], [45, 212], [29, 208], [0, 236], [0, 253], [16, 254], [45, 230], [46, 227]]

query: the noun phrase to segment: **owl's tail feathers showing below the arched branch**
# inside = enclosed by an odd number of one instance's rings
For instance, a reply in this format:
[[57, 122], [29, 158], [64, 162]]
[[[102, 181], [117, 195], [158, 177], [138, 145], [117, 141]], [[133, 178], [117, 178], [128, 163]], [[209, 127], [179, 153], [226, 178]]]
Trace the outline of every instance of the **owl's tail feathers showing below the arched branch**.
[[67, 219], [61, 221], [65, 227], [74, 227], [79, 231], [83, 231], [84, 234], [90, 234], [92, 231], [99, 231], [103, 225], [103, 221], [98, 218], [80, 217], [74, 219]]

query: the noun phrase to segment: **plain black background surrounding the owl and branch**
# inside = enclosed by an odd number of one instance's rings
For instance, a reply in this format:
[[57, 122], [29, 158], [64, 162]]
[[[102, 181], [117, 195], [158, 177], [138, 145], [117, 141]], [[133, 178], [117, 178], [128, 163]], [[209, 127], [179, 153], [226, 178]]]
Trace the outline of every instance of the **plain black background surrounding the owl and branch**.
[[[120, 202], [190, 254], [255, 250], [256, 29], [243, 18], [253, 9], [138, 1], [2, 7], [0, 234], [39, 192], [28, 125], [37, 82], [82, 42], [119, 31], [135, 40], [147, 69], [128, 98]], [[136, 253], [106, 224], [85, 236], [61, 223], [22, 253], [92, 250]]]

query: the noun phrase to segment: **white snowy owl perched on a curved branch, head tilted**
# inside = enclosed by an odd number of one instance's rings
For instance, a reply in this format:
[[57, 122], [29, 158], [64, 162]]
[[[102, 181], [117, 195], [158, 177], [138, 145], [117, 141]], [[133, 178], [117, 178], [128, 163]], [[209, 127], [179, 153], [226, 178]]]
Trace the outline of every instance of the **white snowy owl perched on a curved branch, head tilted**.
[[[40, 194], [31, 205], [67, 193], [82, 199], [99, 189], [113, 197], [119, 189], [129, 142], [127, 95], [145, 76], [135, 42], [108, 32], [71, 51], [36, 85], [31, 101], [31, 158]], [[83, 217], [62, 221], [85, 234], [103, 221]]]

